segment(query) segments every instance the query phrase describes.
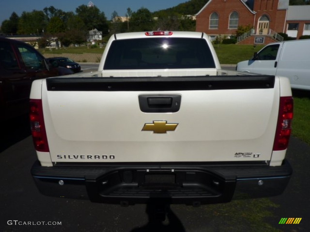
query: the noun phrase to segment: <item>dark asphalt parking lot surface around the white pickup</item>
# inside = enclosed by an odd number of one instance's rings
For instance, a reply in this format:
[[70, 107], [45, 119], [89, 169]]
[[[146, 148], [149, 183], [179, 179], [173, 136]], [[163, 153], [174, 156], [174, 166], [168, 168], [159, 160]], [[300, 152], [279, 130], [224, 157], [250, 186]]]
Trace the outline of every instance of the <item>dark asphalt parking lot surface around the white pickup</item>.
[[[167, 220], [159, 223], [144, 204], [121, 207], [41, 195], [30, 175], [36, 153], [28, 118], [4, 123], [1, 136], [0, 231], [306, 232], [310, 228], [310, 147], [294, 137], [287, 152], [294, 174], [282, 195], [198, 208], [172, 205]], [[298, 225], [281, 225], [283, 217], [302, 220]], [[49, 222], [52, 225], [43, 225]]]

